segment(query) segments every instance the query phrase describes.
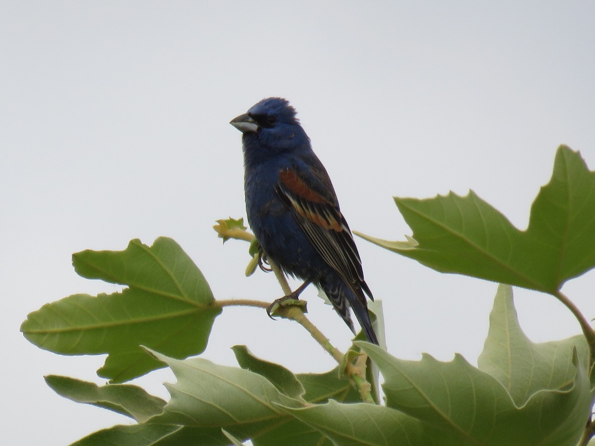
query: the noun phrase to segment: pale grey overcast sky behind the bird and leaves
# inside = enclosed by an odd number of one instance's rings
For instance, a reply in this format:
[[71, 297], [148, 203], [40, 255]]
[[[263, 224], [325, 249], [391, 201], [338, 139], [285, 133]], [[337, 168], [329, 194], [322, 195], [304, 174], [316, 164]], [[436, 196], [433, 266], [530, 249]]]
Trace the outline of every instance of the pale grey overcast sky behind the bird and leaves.
[[[267, 96], [289, 99], [353, 230], [403, 240], [411, 231], [393, 196], [468, 189], [525, 228], [560, 143], [595, 169], [594, 24], [593, 1], [2, 2], [6, 444], [62, 446], [129, 423], [43, 382], [57, 373], [102, 384], [104, 357], [48, 353], [18, 331], [46, 302], [118, 289], [77, 277], [73, 252], [168, 235], [218, 299], [280, 297], [272, 275], [244, 277], [245, 244], [222, 246], [211, 229], [245, 216], [231, 118]], [[356, 243], [383, 301], [389, 351], [475, 363], [496, 284]], [[594, 276], [564, 289], [588, 319]], [[313, 288], [303, 297], [312, 321], [347, 348], [340, 318]], [[553, 297], [515, 297], [534, 341], [580, 331]], [[299, 326], [262, 310], [224, 310], [203, 356], [235, 365], [236, 344], [295, 372], [334, 366]], [[161, 371], [140, 382], [165, 398], [161, 382], [172, 379]]]

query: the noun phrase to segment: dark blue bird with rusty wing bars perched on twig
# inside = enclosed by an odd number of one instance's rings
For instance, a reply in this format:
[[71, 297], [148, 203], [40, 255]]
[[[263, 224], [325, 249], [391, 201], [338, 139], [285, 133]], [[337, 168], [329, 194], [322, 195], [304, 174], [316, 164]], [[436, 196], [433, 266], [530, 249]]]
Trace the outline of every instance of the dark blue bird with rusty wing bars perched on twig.
[[263, 256], [304, 281], [286, 297], [297, 299], [314, 284], [353, 334], [349, 309], [378, 345], [366, 295], [374, 297], [358, 249], [295, 108], [287, 99], [266, 98], [230, 124], [242, 132], [246, 213]]

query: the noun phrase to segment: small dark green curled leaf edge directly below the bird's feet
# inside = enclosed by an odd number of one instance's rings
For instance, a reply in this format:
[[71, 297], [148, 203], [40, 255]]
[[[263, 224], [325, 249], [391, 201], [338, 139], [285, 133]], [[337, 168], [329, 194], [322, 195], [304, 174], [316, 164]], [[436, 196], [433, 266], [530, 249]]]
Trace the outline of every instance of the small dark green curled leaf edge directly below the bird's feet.
[[237, 363], [245, 370], [258, 373], [268, 379], [281, 393], [301, 399], [305, 390], [296, 376], [278, 364], [262, 360], [248, 350], [246, 346], [231, 347], [236, 355]]

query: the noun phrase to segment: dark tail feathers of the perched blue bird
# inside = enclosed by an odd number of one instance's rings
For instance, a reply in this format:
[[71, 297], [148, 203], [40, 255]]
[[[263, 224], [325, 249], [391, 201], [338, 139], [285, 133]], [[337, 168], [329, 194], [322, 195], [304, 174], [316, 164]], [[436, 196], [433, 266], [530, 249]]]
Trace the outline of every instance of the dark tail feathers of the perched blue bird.
[[351, 321], [349, 307], [353, 309], [355, 317], [358, 318], [359, 325], [361, 325], [362, 330], [366, 335], [366, 339], [372, 344], [376, 344], [377, 346], [380, 345], [378, 344], [378, 338], [376, 337], [374, 328], [372, 328], [372, 321], [370, 321], [364, 293], [359, 290], [359, 294], [361, 294], [361, 296], [359, 296], [358, 299], [358, 296], [355, 296], [353, 291], [350, 290], [350, 288], [347, 287], [343, 281], [334, 284], [335, 286], [332, 286], [328, 283], [322, 283], [321, 285], [324, 289], [324, 292], [327, 294], [328, 299], [333, 304], [334, 309], [343, 318], [343, 321], [345, 321], [351, 331], [353, 331], [353, 334], [356, 333], [355, 329], [353, 329], [353, 322]]

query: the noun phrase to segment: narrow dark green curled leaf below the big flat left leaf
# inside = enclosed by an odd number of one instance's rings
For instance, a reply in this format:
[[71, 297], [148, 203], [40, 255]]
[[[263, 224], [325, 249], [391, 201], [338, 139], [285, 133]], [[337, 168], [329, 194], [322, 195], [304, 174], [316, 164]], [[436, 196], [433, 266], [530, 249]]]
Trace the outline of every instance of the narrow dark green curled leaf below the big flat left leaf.
[[142, 423], [161, 413], [165, 401], [149, 395], [144, 389], [129, 384], [108, 384], [99, 387], [93, 382], [67, 376], [48, 375], [45, 382], [58, 395], [76, 401], [104, 407], [134, 418]]

